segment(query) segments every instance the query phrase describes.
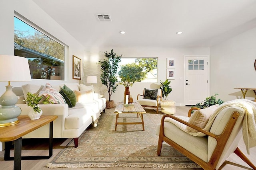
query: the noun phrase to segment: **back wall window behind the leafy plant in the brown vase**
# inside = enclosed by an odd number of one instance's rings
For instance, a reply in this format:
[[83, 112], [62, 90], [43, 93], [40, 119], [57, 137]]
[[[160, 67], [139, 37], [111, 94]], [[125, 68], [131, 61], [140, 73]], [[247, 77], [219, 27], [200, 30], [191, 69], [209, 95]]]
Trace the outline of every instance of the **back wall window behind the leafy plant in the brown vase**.
[[137, 76], [138, 82], [157, 82], [157, 62], [157, 58], [121, 58], [118, 81], [120, 74], [127, 73]]

